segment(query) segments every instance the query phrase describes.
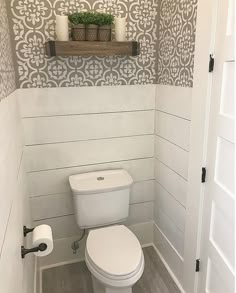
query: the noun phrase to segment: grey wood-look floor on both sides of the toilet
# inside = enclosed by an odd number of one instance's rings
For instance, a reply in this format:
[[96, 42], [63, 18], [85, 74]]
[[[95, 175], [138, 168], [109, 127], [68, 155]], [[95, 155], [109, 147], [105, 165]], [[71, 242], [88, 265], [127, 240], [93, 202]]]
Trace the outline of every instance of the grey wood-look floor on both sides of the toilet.
[[[145, 270], [133, 293], [180, 293], [153, 247], [143, 249]], [[43, 293], [93, 293], [92, 279], [85, 262], [44, 270]]]

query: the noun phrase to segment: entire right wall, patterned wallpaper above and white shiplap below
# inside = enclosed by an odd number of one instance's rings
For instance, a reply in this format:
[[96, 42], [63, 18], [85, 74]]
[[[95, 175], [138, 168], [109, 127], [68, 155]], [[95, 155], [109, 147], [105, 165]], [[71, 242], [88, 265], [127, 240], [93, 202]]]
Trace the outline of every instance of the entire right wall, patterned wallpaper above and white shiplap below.
[[154, 244], [183, 285], [197, 0], [159, 1]]

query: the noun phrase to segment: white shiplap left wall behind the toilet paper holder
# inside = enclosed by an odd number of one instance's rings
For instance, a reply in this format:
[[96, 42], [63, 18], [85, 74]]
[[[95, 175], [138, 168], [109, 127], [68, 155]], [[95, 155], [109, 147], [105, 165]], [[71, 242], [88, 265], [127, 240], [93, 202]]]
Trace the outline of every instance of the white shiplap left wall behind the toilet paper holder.
[[21, 259], [23, 225], [31, 214], [23, 162], [21, 120], [15, 92], [0, 102], [0, 292], [32, 293], [34, 257]]

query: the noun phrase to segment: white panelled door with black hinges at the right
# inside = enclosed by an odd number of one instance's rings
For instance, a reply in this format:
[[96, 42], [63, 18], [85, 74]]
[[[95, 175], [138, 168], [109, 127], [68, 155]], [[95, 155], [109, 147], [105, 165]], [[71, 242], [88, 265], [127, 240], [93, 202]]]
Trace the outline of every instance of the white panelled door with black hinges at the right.
[[217, 1], [198, 293], [234, 292], [234, 1]]

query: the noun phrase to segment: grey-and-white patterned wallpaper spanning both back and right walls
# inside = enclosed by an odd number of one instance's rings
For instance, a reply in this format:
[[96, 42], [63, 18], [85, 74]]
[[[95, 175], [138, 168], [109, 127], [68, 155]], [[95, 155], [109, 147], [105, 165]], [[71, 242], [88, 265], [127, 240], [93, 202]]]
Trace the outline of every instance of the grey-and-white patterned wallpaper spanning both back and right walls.
[[[192, 86], [196, 1], [9, 0], [18, 86]], [[126, 16], [127, 39], [141, 43], [141, 55], [48, 58], [44, 43], [55, 39], [55, 15], [90, 9]]]

